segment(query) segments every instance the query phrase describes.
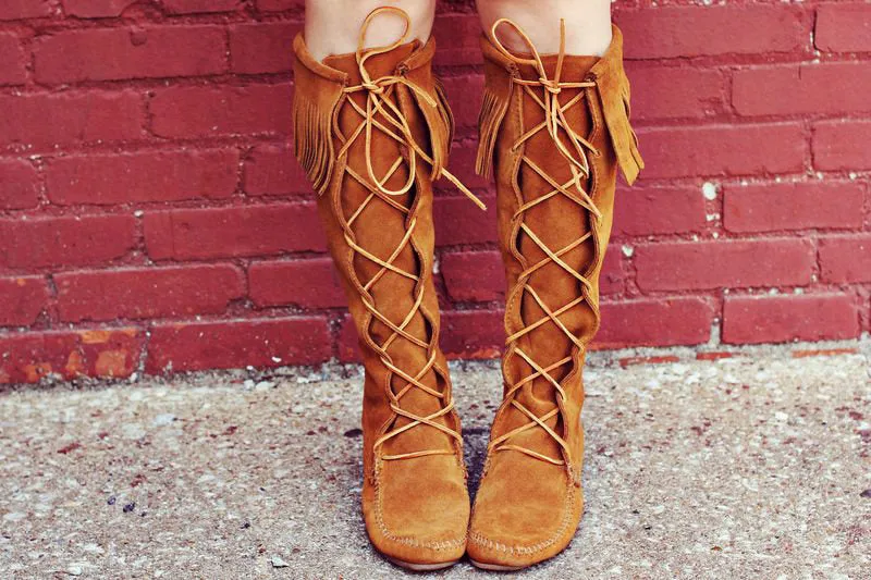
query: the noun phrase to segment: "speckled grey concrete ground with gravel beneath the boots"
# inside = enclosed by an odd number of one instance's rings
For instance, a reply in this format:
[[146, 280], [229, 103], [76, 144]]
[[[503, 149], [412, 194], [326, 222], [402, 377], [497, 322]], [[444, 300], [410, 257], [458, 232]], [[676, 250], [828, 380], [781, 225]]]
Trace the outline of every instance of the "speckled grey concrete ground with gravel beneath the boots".
[[[871, 578], [864, 356], [592, 362], [581, 528], [517, 577]], [[0, 395], [0, 576], [404, 576], [369, 548], [360, 378], [335, 371]], [[498, 367], [454, 381], [476, 484]]]

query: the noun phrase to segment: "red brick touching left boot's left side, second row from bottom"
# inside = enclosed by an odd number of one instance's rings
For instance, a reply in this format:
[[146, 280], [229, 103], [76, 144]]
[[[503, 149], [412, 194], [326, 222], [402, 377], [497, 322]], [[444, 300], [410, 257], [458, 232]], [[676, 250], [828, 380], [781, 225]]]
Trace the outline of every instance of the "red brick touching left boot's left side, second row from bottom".
[[259, 307], [339, 308], [347, 305], [330, 258], [255, 262], [248, 268], [248, 287], [252, 300]]

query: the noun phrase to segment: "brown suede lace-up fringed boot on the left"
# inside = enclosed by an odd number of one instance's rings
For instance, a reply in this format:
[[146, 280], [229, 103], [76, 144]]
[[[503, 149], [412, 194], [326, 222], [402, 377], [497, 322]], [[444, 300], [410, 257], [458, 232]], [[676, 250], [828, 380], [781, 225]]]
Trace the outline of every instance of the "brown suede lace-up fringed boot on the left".
[[[361, 48], [385, 11], [405, 18], [406, 34]], [[403, 44], [407, 24], [402, 11], [376, 10], [357, 52], [322, 63], [297, 36], [293, 112], [366, 369], [366, 528], [391, 560], [428, 570], [463, 556], [469, 517], [432, 283], [432, 180], [458, 182], [444, 170], [453, 121], [430, 69], [434, 42]]]

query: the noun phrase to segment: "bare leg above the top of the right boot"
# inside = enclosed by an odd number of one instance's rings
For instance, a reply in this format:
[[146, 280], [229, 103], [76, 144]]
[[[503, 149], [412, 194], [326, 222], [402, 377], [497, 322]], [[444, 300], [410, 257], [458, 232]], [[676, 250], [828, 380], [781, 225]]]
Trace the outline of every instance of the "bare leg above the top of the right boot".
[[[610, 0], [477, 0], [484, 32], [490, 34], [499, 18], [517, 23], [541, 54], [560, 50], [560, 18], [565, 20], [567, 54], [601, 57], [611, 44]], [[510, 50], [528, 48], [507, 26], [500, 39]]]

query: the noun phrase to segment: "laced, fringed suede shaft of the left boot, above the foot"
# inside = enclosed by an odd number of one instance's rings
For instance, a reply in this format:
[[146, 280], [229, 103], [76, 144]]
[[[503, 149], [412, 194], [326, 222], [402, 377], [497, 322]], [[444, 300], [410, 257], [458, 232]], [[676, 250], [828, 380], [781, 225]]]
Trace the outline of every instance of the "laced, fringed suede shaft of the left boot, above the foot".
[[452, 119], [431, 71], [434, 42], [396, 42], [315, 61], [302, 35], [296, 155], [318, 192], [366, 369], [364, 462], [459, 456], [432, 282], [432, 180]]

